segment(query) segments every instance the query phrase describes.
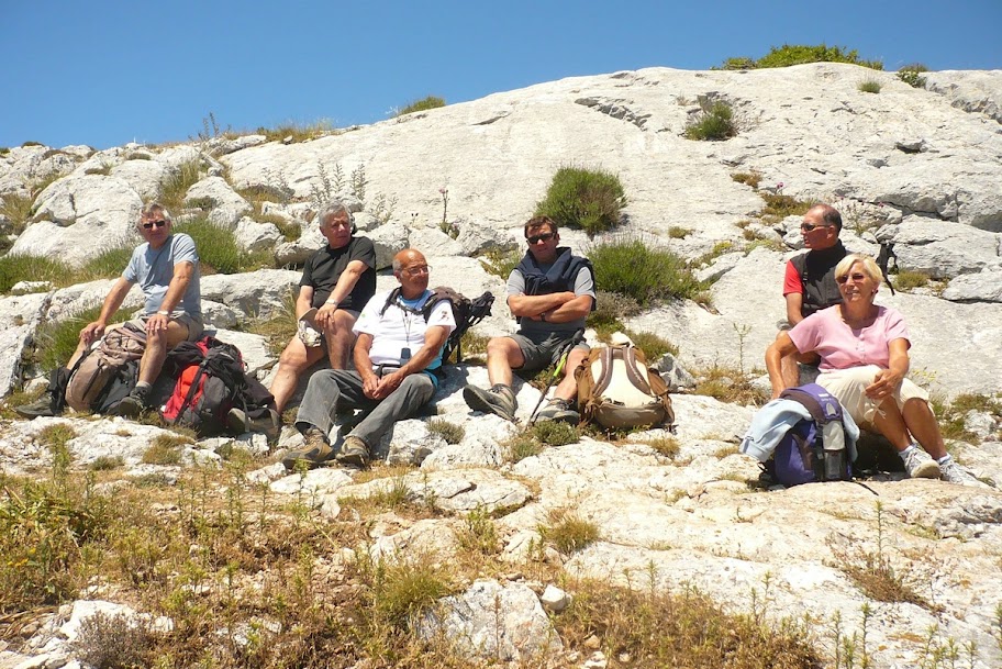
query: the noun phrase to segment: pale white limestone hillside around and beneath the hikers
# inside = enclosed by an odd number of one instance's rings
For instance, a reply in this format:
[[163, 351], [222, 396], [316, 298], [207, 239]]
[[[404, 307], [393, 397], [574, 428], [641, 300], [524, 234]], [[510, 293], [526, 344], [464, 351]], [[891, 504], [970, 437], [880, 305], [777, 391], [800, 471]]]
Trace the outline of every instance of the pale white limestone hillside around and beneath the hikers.
[[[12, 235], [11, 256], [54, 257], [80, 267], [109, 248], [134, 244], [132, 225], [142, 203], [162, 198], [179, 221], [208, 218], [232, 231], [247, 254], [294, 267], [320, 244], [309, 222], [313, 202], [341, 193], [376, 243], [381, 267], [400, 248], [414, 246], [428, 257], [433, 285], [468, 296], [503, 294], [502, 278], [486, 271], [480, 259], [522, 247], [521, 225], [558, 167], [600, 167], [623, 181], [624, 224], [595, 239], [576, 231], [561, 236], [586, 253], [592, 244], [628, 235], [699, 259], [700, 278], [713, 281], [711, 306], [675, 301], [626, 325], [675, 343], [681, 365], [700, 376], [713, 367], [760, 368], [782, 316], [783, 260], [801, 244], [800, 216], [777, 215], [764, 196], [825, 201], [843, 212], [849, 248], [873, 253], [879, 242], [893, 242], [899, 286], [904, 276], [918, 277], [915, 288], [891, 296], [884, 287], [878, 297], [904, 313], [917, 376], [943, 397], [997, 394], [1002, 70], [931, 73], [927, 79], [926, 88], [916, 89], [889, 73], [837, 64], [709, 73], [652, 68], [538, 85], [307, 141], [220, 134], [102, 152], [15, 147], [0, 153], [0, 224]], [[879, 81], [879, 93], [860, 91], [864, 80]], [[734, 110], [736, 136], [684, 138], [687, 123], [717, 101]], [[203, 278], [209, 321], [242, 347], [264, 379], [275, 355], [263, 336], [246, 332], [247, 324], [280, 314], [298, 279], [294, 269]], [[383, 272], [380, 286], [391, 283]], [[27, 282], [0, 297], [0, 391], [37, 383], [40, 370], [22, 357], [40, 324], [99, 303], [109, 285]], [[138, 304], [134, 294], [127, 306]], [[511, 332], [509, 316], [499, 301], [478, 331]], [[460, 583], [464, 605], [483, 605], [492, 599], [485, 592], [505, 593], [492, 601], [504, 599], [512, 616], [522, 613], [533, 622], [517, 618], [503, 633], [483, 633], [494, 645], [472, 644], [471, 654], [527, 661], [545, 651], [568, 665], [628, 665], [605, 657], [601, 644], [579, 648], [565, 638], [561, 645], [536, 596], [543, 591], [536, 586], [545, 583], [520, 573], [543, 560], [553, 567], [552, 582], [588, 577], [659, 591], [693, 586], [728, 610], [755, 610], [767, 601], [768, 615], [777, 620], [810, 616], [831, 666], [837, 642], [826, 631], [836, 616], [848, 635], [865, 633], [870, 666], [950, 666], [929, 664], [933, 650], [970, 642], [971, 666], [1002, 665], [997, 488], [889, 473], [866, 486], [766, 491], [756, 484], [757, 465], [735, 446], [754, 408], [697, 394], [676, 395], [673, 436], [650, 431], [613, 443], [592, 435], [513, 454], [516, 428], [474, 416], [459, 393], [465, 382], [486, 383], [486, 371], [456, 367], [436, 401], [439, 419], [463, 426], [465, 435], [447, 443], [430, 430], [427, 417], [398, 425], [381, 445], [390, 462], [408, 468], [393, 470], [393, 478], [359, 482], [356, 472], [337, 469], [288, 477], [269, 464], [274, 456], [259, 435], [188, 444], [180, 465], [143, 464], [163, 431], [118, 419], [5, 421], [0, 462], [7, 473], [43, 472], [52, 456], [40, 435], [58, 424], [73, 428], [67, 447], [74, 467], [121, 456], [118, 475], [125, 481], [155, 472], [169, 484], [192, 462], [223, 462], [234, 446], [256, 453], [249, 476], [276, 495], [299, 499], [308, 489], [315, 523], [350, 523], [358, 512], [342, 509], [345, 499], [385, 495], [391, 486], [412, 501], [435, 500], [430, 517], [388, 512], [366, 525], [367, 535], [349, 548], [377, 556], [420, 548], [447, 562], [460, 550], [458, 520], [486, 511], [503, 546], [494, 559], [510, 567], [492, 572], [492, 580], [469, 577]], [[528, 384], [519, 391], [523, 419], [537, 397]], [[951, 443], [951, 450], [983, 481], [1002, 482], [998, 414], [972, 411], [961, 422], [968, 441]], [[297, 438], [287, 428], [280, 447]], [[555, 510], [572, 510], [593, 524], [598, 540], [580, 550], [548, 546], [541, 527]], [[548, 547], [541, 551], [541, 545]], [[890, 565], [908, 575], [917, 595], [881, 601], [846, 565], [864, 571]], [[27, 642], [0, 651], [0, 667], [70, 661], [65, 640], [73, 634], [60, 632], [70, 614], [67, 605], [40, 618]], [[447, 632], [452, 638], [481, 638], [477, 634]], [[945, 662], [942, 657], [936, 661]]]

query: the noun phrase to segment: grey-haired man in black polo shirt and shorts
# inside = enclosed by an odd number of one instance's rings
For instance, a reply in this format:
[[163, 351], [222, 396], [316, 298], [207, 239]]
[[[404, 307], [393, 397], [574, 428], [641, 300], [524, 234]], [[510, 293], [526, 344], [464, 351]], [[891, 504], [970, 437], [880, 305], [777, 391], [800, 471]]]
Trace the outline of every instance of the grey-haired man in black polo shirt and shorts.
[[332, 369], [347, 367], [355, 343], [352, 327], [376, 293], [376, 248], [370, 239], [354, 236], [354, 220], [347, 207], [333, 200], [320, 210], [318, 220], [327, 244], [307, 260], [296, 317], [307, 315], [323, 337], [313, 341], [309, 331], [301, 328], [282, 350], [270, 388], [279, 413], [296, 391], [299, 375], [323, 357], [325, 346]]

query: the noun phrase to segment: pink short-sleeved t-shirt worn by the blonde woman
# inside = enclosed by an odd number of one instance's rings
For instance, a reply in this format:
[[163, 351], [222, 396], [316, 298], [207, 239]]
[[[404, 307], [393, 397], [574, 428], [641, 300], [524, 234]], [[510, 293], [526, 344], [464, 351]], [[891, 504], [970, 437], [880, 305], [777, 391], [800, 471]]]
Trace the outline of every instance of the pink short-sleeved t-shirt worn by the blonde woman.
[[798, 323], [790, 331], [790, 338], [797, 350], [813, 350], [821, 356], [817, 368], [822, 371], [862, 365], [886, 369], [890, 358], [888, 345], [892, 341], [904, 339], [911, 346], [901, 313], [886, 306], [878, 306], [873, 324], [860, 330], [846, 325], [838, 306], [830, 306]]

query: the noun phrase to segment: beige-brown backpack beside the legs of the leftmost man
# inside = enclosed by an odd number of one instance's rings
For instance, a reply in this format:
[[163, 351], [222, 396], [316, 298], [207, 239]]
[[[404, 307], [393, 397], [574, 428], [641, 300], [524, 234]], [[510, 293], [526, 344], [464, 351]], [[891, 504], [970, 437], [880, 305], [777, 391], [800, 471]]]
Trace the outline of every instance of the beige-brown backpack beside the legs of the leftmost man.
[[105, 333], [97, 348], [77, 364], [66, 386], [66, 403], [77, 411], [98, 411], [101, 393], [130, 361], [146, 349], [146, 333], [132, 323]]

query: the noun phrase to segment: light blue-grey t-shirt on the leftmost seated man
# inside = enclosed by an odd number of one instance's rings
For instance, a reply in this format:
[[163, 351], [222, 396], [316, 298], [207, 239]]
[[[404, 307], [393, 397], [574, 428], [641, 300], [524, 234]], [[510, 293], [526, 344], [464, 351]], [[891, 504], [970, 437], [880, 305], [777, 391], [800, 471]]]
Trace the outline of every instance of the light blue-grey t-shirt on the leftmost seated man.
[[159, 248], [152, 248], [148, 242], [138, 245], [122, 272], [122, 278], [126, 281], [140, 285], [146, 297], [147, 314], [159, 311], [167, 287], [174, 278], [174, 267], [179, 263], [191, 263], [193, 269], [188, 288], [175, 309], [192, 316], [202, 314], [198, 252], [194, 249], [194, 239], [185, 233], [170, 235]]

